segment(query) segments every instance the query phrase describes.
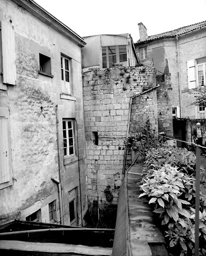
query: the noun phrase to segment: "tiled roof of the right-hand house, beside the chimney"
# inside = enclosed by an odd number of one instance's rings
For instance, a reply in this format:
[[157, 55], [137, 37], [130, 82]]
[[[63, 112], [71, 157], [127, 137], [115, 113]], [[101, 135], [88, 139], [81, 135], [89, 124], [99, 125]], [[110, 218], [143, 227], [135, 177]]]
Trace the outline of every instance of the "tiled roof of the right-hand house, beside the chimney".
[[206, 27], [206, 21], [202, 21], [202, 22], [195, 23], [195, 24], [188, 25], [188, 26], [183, 26], [183, 27], [177, 28], [175, 30], [160, 33], [160, 34], [149, 35], [147, 40], [142, 40], [142, 41], [138, 40], [136, 43], [147, 42], [147, 41], [151, 41], [151, 40], [155, 40], [155, 39], [159, 39], [159, 38], [163, 38], [163, 37], [177, 36], [177, 35], [181, 35], [184, 33], [194, 31], [194, 30], [202, 28], [202, 27]]

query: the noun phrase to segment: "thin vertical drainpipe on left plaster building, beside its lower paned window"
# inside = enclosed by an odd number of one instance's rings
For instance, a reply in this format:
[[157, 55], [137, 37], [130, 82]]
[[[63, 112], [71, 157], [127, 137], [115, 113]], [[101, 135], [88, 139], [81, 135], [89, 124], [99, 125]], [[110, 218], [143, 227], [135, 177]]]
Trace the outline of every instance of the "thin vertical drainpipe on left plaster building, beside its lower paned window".
[[[55, 109], [56, 109], [56, 138], [57, 138], [57, 150], [58, 150], [58, 170], [59, 170], [59, 183], [57, 184], [60, 184], [60, 186], [58, 185], [58, 188], [62, 189], [61, 188], [61, 165], [60, 165], [60, 152], [59, 152], [59, 130], [58, 130], [58, 123], [59, 123], [59, 120], [58, 120], [58, 105], [55, 105]], [[54, 179], [52, 179], [54, 181]], [[62, 191], [60, 190], [60, 193], [59, 193], [59, 203], [61, 203], [60, 205], [60, 208], [61, 208], [61, 211], [60, 211], [60, 214], [61, 215], [61, 224], [64, 224], [64, 208], [63, 208], [63, 205], [64, 205], [64, 202], [63, 202], [63, 196], [62, 196]]]

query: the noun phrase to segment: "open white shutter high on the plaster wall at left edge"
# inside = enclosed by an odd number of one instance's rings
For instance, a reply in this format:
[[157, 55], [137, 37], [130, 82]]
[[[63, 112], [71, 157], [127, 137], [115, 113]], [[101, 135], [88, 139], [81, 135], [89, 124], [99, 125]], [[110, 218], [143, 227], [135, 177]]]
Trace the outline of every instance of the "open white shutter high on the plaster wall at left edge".
[[3, 83], [16, 84], [15, 38], [10, 23], [1, 21]]

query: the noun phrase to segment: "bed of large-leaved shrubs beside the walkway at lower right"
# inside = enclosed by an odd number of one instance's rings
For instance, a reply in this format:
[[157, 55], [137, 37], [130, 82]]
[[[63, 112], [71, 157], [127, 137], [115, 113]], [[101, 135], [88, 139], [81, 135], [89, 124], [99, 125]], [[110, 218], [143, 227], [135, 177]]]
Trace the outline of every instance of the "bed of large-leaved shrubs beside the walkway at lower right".
[[[149, 196], [171, 255], [194, 255], [196, 155], [187, 149], [162, 147], [150, 150], [145, 159], [140, 196]], [[199, 239], [199, 255], [206, 255], [206, 196], [202, 193]]]

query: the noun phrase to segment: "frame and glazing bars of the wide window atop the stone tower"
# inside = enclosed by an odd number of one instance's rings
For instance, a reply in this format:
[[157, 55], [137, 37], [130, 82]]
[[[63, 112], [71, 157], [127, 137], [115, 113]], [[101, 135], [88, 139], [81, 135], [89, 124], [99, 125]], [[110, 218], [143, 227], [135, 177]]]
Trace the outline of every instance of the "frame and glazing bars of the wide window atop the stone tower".
[[[119, 50], [120, 46], [126, 46], [126, 51], [120, 53], [120, 50]], [[115, 47], [115, 53], [110, 54], [109, 52], [110, 47]], [[103, 50], [105, 49], [106, 49], [106, 55], [103, 55]], [[120, 62], [120, 55], [123, 55], [123, 54], [127, 54], [127, 60]], [[116, 61], [112, 62], [111, 65], [109, 61], [110, 56], [116, 56]], [[106, 61], [103, 62], [103, 58], [105, 57], [106, 57]], [[102, 68], [109, 68], [109, 67], [112, 67], [114, 63], [122, 63], [126, 61], [128, 61], [128, 45], [127, 44], [102, 46]], [[106, 62], [106, 66], [104, 65], [105, 62]]]

